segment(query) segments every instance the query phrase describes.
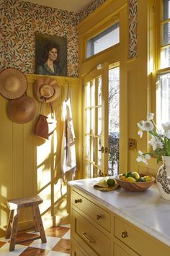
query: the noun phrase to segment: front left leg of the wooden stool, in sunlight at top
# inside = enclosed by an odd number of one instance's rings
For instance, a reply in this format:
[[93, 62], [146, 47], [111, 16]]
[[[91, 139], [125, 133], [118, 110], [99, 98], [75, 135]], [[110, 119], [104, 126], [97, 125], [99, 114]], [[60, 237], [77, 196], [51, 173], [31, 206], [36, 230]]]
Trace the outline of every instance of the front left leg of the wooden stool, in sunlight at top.
[[12, 234], [10, 239], [9, 251], [12, 251], [15, 247], [17, 238], [17, 223], [18, 223], [19, 210], [14, 210], [14, 216], [12, 220]]

